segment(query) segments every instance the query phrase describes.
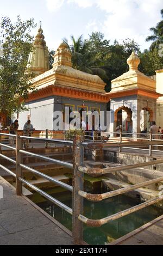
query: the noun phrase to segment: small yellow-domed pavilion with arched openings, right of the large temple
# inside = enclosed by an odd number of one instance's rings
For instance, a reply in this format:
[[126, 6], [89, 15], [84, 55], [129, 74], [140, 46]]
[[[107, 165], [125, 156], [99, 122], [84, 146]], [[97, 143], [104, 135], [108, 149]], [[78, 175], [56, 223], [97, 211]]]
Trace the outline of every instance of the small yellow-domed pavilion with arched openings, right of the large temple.
[[122, 125], [123, 133], [148, 132], [156, 120], [156, 81], [138, 70], [139, 57], [134, 53], [127, 59], [129, 71], [112, 80], [111, 92], [103, 94], [111, 101], [110, 131]]

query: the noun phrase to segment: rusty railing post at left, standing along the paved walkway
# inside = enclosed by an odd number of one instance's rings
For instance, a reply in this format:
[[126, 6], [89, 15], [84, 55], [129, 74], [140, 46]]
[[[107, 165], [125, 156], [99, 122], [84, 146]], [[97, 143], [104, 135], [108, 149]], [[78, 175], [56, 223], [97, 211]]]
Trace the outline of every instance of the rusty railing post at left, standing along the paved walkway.
[[22, 154], [20, 150], [23, 149], [22, 139], [16, 134], [16, 195], [21, 196], [22, 194], [22, 182], [18, 178], [22, 178]]

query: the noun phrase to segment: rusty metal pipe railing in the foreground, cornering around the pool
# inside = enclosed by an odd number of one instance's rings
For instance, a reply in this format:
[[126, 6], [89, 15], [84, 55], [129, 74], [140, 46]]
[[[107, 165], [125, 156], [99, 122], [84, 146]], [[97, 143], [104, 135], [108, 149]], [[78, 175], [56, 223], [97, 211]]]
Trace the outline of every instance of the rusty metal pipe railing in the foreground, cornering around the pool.
[[[0, 133], [0, 136], [4, 136], [4, 133]], [[127, 210], [123, 210], [121, 212], [117, 212], [114, 215], [106, 216], [105, 218], [102, 218], [100, 220], [91, 220], [84, 216], [84, 198], [87, 200], [90, 200], [92, 202], [99, 202], [106, 198], [114, 197], [120, 194], [127, 193], [129, 191], [133, 191], [137, 188], [141, 188], [144, 186], [148, 186], [151, 184], [156, 184], [158, 182], [163, 181], [163, 175], [162, 177], [158, 179], [152, 179], [145, 182], [141, 182], [140, 184], [136, 185], [129, 185], [124, 188], [120, 188], [115, 191], [110, 191], [102, 194], [91, 194], [84, 191], [84, 173], [91, 175], [91, 176], [101, 176], [106, 175], [108, 173], [114, 173], [114, 172], [120, 172], [122, 170], [130, 170], [133, 168], [140, 168], [145, 166], [155, 166], [156, 164], [163, 163], [163, 158], [155, 161], [148, 161], [148, 162], [142, 162], [142, 163], [135, 163], [130, 164], [126, 166], [118, 166], [118, 167], [110, 167], [110, 168], [86, 168], [84, 166], [84, 148], [87, 150], [92, 149], [100, 149], [105, 150], [108, 147], [137, 147], [138, 145], [145, 145], [152, 147], [152, 145], [155, 145], [155, 141], [146, 141], [146, 142], [115, 142], [115, 143], [102, 143], [102, 142], [84, 142], [84, 134], [79, 135], [76, 133], [75, 136], [73, 136], [73, 142], [72, 141], [64, 141], [59, 139], [49, 139], [49, 138], [36, 138], [36, 137], [25, 137], [25, 136], [18, 136], [18, 135], [9, 135], [5, 134], [5, 136], [12, 136], [16, 139], [16, 148], [10, 147], [8, 148], [8, 145], [5, 145], [3, 143], [0, 143], [1, 147], [7, 147], [8, 149], [12, 149], [16, 152], [16, 160], [11, 159], [10, 157], [7, 157], [3, 154], [0, 155], [5, 160], [8, 160], [14, 164], [16, 164], [16, 173], [11, 172], [8, 168], [0, 164], [0, 168], [8, 172], [10, 175], [14, 176], [16, 179], [16, 194], [18, 196], [22, 195], [22, 186], [23, 184], [32, 188], [32, 190], [40, 193], [43, 197], [47, 198], [48, 200], [51, 200], [55, 205], [58, 205], [61, 209], [65, 210], [69, 214], [72, 215], [72, 227], [73, 227], [73, 239], [76, 244], [80, 244], [83, 241], [83, 223], [90, 227], [101, 227], [101, 225], [104, 225], [112, 220], [116, 220], [118, 218], [121, 218], [123, 216], [129, 215], [132, 212], [138, 211], [140, 209], [146, 208], [149, 205], [153, 205], [155, 203], [158, 203], [162, 200], [160, 197], [153, 198], [151, 200], [147, 200], [147, 202], [141, 203], [139, 205], [136, 205], [132, 208], [129, 208]], [[24, 139], [31, 139], [33, 141], [42, 141], [46, 143], [54, 143], [58, 145], [67, 145], [68, 147], [73, 148], [73, 162], [64, 162], [57, 159], [52, 159], [47, 156], [39, 155], [31, 153], [27, 150], [23, 150], [23, 140]], [[163, 145], [163, 141], [158, 142], [159, 145]], [[23, 155], [29, 155], [33, 156], [45, 161], [53, 162], [55, 164], [59, 164], [61, 166], [64, 166], [66, 168], [72, 169], [73, 172], [73, 186], [67, 185], [62, 181], [59, 181], [57, 179], [52, 178], [51, 176], [48, 176], [46, 174], [43, 174], [39, 172], [38, 170], [35, 170], [33, 168], [30, 168], [29, 166], [26, 166], [26, 164], [23, 164], [22, 156]], [[69, 208], [67, 205], [59, 202], [59, 200], [55, 199], [54, 197], [50, 196], [46, 192], [42, 191], [40, 188], [33, 185], [28, 180], [23, 179], [23, 169], [28, 170], [29, 172], [32, 172], [36, 175], [41, 176], [42, 178], [47, 179], [48, 181], [53, 182], [54, 184], [65, 188], [67, 191], [72, 192], [72, 200], [73, 200], [73, 207], [72, 209]]]

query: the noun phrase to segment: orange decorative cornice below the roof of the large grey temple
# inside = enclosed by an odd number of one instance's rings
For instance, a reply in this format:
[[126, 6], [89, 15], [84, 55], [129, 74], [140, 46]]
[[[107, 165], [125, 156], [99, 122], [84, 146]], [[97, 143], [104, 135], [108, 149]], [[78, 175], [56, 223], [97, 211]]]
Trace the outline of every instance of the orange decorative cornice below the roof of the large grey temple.
[[37, 92], [29, 94], [26, 102], [39, 100], [49, 96], [70, 97], [73, 99], [89, 100], [103, 103], [108, 102], [108, 96], [104, 96], [99, 93], [86, 92], [85, 90], [65, 88], [61, 86], [48, 86], [46, 88], [39, 89]]

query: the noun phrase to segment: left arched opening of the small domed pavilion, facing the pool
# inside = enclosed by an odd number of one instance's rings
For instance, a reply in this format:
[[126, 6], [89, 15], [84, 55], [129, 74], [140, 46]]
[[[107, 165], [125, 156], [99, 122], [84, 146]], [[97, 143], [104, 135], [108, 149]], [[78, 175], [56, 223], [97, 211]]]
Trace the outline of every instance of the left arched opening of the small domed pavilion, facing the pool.
[[133, 115], [133, 112], [128, 107], [122, 106], [116, 109], [114, 113], [114, 131], [116, 132], [116, 127], [121, 125], [123, 133], [132, 133], [133, 132], [132, 115]]

